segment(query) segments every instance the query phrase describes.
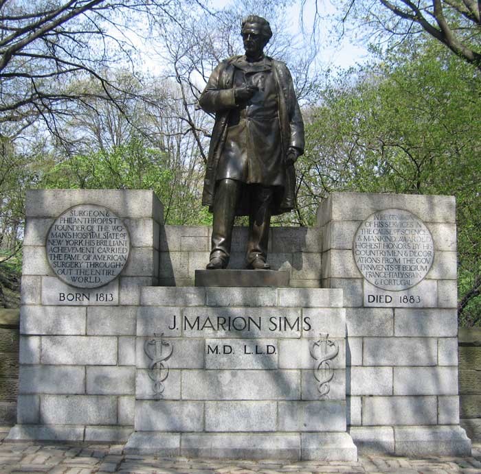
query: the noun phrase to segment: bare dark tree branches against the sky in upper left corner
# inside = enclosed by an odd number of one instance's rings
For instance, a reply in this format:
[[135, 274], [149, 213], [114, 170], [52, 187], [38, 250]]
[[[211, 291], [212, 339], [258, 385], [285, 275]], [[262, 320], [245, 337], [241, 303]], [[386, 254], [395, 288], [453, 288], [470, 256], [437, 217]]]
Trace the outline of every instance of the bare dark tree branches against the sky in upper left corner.
[[[115, 104], [122, 89], [107, 69], [129, 64], [135, 71], [135, 37], [145, 25], [174, 21], [180, 0], [0, 1], [0, 123], [17, 129], [41, 118], [62, 137], [71, 104], [96, 97]], [[183, 0], [194, 3], [196, 0]], [[91, 78], [95, 92], [79, 88]], [[85, 82], [84, 82], [85, 83]]]

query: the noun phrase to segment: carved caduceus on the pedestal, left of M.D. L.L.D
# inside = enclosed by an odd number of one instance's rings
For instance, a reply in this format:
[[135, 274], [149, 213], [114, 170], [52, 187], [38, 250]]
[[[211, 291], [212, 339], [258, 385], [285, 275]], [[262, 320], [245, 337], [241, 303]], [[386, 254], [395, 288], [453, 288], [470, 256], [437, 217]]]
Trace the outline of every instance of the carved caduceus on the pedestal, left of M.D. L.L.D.
[[153, 381], [154, 396], [164, 398], [164, 381], [168, 377], [169, 368], [166, 362], [172, 356], [174, 347], [164, 340], [164, 333], [154, 334], [152, 339], [144, 342], [144, 352], [152, 362], [148, 364], [148, 377]]

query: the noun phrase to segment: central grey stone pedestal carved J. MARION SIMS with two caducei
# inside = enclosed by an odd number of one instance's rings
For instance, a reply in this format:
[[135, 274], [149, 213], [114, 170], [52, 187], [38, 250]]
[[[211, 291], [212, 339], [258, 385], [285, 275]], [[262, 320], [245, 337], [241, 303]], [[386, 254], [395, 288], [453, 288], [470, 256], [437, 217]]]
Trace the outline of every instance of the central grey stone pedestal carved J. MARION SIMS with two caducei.
[[342, 292], [150, 287], [141, 298], [127, 452], [357, 459]]

